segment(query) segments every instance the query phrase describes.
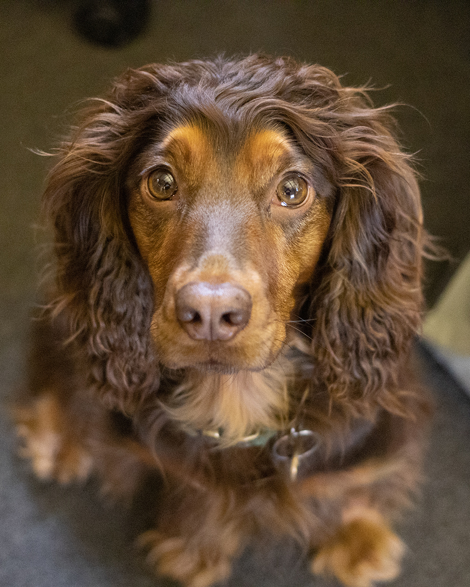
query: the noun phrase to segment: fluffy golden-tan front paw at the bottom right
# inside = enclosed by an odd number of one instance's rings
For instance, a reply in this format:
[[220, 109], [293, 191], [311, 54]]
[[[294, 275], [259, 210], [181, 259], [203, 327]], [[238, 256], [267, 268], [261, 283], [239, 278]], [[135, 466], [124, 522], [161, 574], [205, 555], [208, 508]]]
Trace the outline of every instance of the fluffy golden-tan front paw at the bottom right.
[[334, 575], [347, 587], [371, 587], [400, 573], [405, 546], [381, 519], [356, 518], [323, 544], [312, 563], [319, 575]]

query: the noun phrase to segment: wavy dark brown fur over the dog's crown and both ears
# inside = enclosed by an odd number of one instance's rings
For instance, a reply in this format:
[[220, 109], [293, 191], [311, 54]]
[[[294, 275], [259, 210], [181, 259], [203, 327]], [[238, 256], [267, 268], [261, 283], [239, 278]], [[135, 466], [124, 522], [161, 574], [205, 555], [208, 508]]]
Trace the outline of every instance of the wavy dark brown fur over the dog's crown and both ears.
[[161, 119], [171, 121], [169, 97], [180, 118], [217, 102], [228, 117], [288, 127], [338, 186], [311, 288], [315, 377], [359, 413], [374, 404], [399, 409], [397, 366], [422, 303], [414, 173], [388, 130], [387, 108], [374, 109], [364, 90], [341, 86], [327, 69], [264, 56], [129, 70], [62, 146], [45, 193], [58, 257], [53, 306], [68, 309], [105, 398], [133, 411], [158, 384], [153, 289], [126, 225], [125, 173]]

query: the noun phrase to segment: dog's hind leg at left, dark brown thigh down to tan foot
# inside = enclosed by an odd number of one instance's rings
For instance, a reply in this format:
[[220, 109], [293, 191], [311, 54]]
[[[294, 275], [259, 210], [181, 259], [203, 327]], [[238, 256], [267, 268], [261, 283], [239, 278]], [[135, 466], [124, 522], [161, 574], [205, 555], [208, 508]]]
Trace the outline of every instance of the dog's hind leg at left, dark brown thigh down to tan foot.
[[64, 342], [63, 322], [33, 322], [28, 386], [13, 409], [20, 454], [42, 480], [71, 483], [98, 473], [106, 494], [130, 499], [155, 462], [128, 421], [88, 388], [86, 357]]

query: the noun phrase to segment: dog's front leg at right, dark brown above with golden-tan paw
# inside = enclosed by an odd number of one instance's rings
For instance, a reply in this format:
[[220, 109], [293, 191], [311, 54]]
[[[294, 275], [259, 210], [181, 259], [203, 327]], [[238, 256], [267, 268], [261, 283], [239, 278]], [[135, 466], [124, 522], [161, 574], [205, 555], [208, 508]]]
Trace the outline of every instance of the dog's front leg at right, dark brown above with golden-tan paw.
[[361, 463], [301, 481], [301, 493], [330, 504], [334, 519], [331, 533], [311, 545], [314, 573], [334, 575], [347, 587], [370, 587], [400, 573], [405, 546], [391, 523], [412, 504], [421, 481], [424, 427], [418, 415], [426, 409], [419, 400], [417, 420], [384, 419], [372, 456]]

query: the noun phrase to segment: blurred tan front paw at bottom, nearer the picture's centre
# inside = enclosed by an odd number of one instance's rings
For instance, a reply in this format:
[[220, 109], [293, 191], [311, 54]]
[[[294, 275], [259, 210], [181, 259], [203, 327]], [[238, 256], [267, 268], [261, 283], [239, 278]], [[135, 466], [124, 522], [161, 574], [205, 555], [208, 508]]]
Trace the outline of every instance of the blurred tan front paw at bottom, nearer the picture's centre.
[[209, 587], [230, 575], [231, 560], [219, 552], [204, 552], [180, 537], [166, 538], [158, 531], [145, 532], [139, 545], [149, 549], [147, 562], [159, 575], [176, 579], [185, 587]]

